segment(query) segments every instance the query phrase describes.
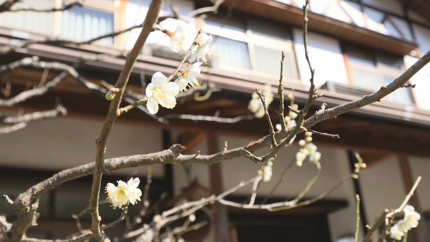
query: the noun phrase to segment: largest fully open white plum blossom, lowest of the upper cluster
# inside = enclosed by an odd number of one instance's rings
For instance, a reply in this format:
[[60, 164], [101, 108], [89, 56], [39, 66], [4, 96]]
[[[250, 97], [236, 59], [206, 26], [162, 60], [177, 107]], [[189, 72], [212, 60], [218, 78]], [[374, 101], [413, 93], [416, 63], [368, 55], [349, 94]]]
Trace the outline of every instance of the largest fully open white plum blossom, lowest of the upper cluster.
[[179, 93], [179, 87], [173, 82], [168, 82], [161, 72], [155, 72], [151, 83], [146, 87], [148, 101], [146, 107], [151, 114], [156, 114], [158, 104], [163, 107], [173, 108], [176, 105], [175, 96]]

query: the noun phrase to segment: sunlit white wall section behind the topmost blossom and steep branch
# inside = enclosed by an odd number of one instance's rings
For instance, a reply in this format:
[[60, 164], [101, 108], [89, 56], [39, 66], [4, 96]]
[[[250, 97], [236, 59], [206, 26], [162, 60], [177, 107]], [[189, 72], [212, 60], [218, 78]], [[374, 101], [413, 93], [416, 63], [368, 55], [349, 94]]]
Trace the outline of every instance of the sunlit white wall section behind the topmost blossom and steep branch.
[[[127, 26], [131, 27], [143, 22], [148, 12], [150, 2], [150, 0], [130, 0], [127, 3]], [[181, 16], [185, 16], [194, 10], [194, 3], [190, 0], [171, 0], [170, 3], [179, 6], [179, 14]], [[165, 2], [161, 9], [160, 16], [168, 15], [171, 12], [170, 5]], [[160, 23], [162, 28], [168, 29], [171, 32], [174, 32], [178, 25], [184, 27], [185, 40], [182, 47], [184, 51], [187, 51], [194, 41], [195, 35], [197, 35], [195, 19], [191, 18], [187, 23], [183, 20], [169, 18]], [[133, 48], [139, 34], [140, 29], [134, 29], [128, 34], [128, 49]], [[170, 37], [160, 31], [154, 31], [148, 36], [146, 43], [170, 47]]]

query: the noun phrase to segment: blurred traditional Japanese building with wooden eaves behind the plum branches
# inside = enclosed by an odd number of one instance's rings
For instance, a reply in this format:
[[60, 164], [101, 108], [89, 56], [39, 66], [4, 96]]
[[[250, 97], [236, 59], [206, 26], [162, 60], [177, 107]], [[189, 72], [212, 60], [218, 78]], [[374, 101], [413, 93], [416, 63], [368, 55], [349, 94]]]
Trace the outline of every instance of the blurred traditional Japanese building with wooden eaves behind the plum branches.
[[[149, 3], [150, 0], [84, 0], [82, 7], [75, 6], [63, 12], [3, 12], [0, 13], [0, 44], [47, 37], [85, 41], [141, 24]], [[60, 8], [64, 4], [62, 0], [23, 0], [16, 6]], [[304, 0], [225, 0], [216, 14], [205, 13], [188, 21], [172, 18], [162, 21], [160, 26], [171, 31], [178, 25], [184, 26], [184, 50], [173, 53], [169, 48], [169, 36], [151, 33], [127, 88], [144, 93], [156, 71], [165, 75], [171, 73], [197, 31], [203, 29], [214, 36], [214, 43], [219, 47], [219, 52], [203, 69], [202, 85], [210, 86], [213, 92], [206, 101], [197, 101], [190, 95], [172, 110], [161, 108], [159, 116], [191, 114], [234, 118], [249, 114], [247, 106], [255, 87], [269, 83], [276, 93], [281, 51], [286, 53], [284, 92], [293, 91], [296, 103], [301, 106], [308, 96], [310, 78], [301, 30], [303, 4]], [[161, 16], [172, 13], [171, 5], [177, 6], [184, 17], [194, 9], [213, 4], [209, 0], [166, 0]], [[315, 84], [324, 96], [315, 101], [310, 114], [322, 103], [333, 107], [372, 93], [410, 67], [430, 49], [429, 10], [430, 3], [421, 0], [311, 1], [309, 54], [316, 71]], [[36, 55], [41, 60], [69, 64], [97, 85], [102, 81], [115, 84], [125, 61], [124, 57], [115, 56], [131, 49], [139, 32], [136, 28], [84, 45], [32, 44], [2, 56], [0, 64]], [[92, 53], [113, 57], [88, 60]], [[7, 99], [39, 85], [43, 75], [49, 81], [56, 74], [46, 69], [15, 69], [2, 74], [0, 98]], [[365, 225], [373, 225], [384, 208], [392, 209], [401, 204], [418, 175], [423, 176], [423, 180], [410, 204], [422, 217], [408, 241], [429, 241], [430, 66], [420, 70], [410, 83], [416, 88], [401, 88], [381, 102], [314, 126], [316, 131], [339, 134], [341, 138], [313, 135], [313, 142], [322, 153], [322, 172], [306, 197], [321, 194], [349, 174], [356, 162], [355, 151], [367, 164], [358, 180], [346, 182], [320, 202], [280, 212], [230, 207], [210, 211], [208, 208], [199, 213], [208, 225], [203, 226], [201, 232], [189, 232], [188, 237], [184, 234], [186, 241], [213, 242], [220, 238], [217, 233], [227, 233], [230, 242], [349, 241], [355, 231], [356, 193], [361, 195], [361, 231], [366, 231]], [[200, 96], [205, 94], [200, 93]], [[279, 101], [276, 98], [275, 95], [269, 107], [273, 121], [277, 120], [274, 110]], [[3, 115], [28, 113], [52, 109], [58, 102], [68, 109], [66, 117], [30, 123], [22, 130], [0, 136], [1, 194], [15, 198], [53, 173], [94, 160], [94, 138], [100, 132], [109, 102], [80, 86], [72, 77], [46, 95], [15, 107], [2, 107], [0, 111]], [[106, 158], [157, 152], [173, 143], [186, 146], [188, 154], [197, 151], [203, 155], [213, 154], [222, 151], [226, 140], [229, 148], [236, 148], [267, 132], [264, 118], [236, 123], [181, 119], [162, 123], [136, 109], [117, 120], [107, 144]], [[261, 184], [258, 201], [269, 194], [281, 170], [298, 149], [299, 146], [293, 144], [278, 154], [272, 182]], [[265, 154], [267, 150], [257, 154]], [[152, 202], [163, 192], [168, 194], [144, 219], [150, 220], [163, 207], [184, 199], [199, 199], [232, 188], [241, 180], [255, 176], [258, 169], [260, 164], [245, 158], [211, 167], [153, 166]], [[293, 167], [270, 201], [294, 198], [315, 172], [311, 163]], [[103, 176], [103, 186], [130, 176], [140, 177], [143, 187], [146, 168]], [[28, 236], [57, 239], [76, 231], [75, 220], [70, 215], [88, 205], [91, 180], [91, 177], [84, 177], [70, 181], [45, 194], [39, 205], [39, 226], [32, 228]], [[241, 189], [229, 199], [244, 201], [249, 194], [249, 188]], [[130, 208], [131, 216], [139, 211], [139, 206], [141, 204]], [[0, 213], [8, 214], [9, 220], [15, 216], [5, 200], [0, 200]], [[119, 213], [107, 204], [101, 205], [105, 221], [116, 219]], [[214, 213], [224, 213], [228, 223], [214, 221]], [[88, 227], [89, 216], [85, 215], [82, 223]], [[110, 233], [120, 234], [124, 228], [125, 225], [119, 225]]]

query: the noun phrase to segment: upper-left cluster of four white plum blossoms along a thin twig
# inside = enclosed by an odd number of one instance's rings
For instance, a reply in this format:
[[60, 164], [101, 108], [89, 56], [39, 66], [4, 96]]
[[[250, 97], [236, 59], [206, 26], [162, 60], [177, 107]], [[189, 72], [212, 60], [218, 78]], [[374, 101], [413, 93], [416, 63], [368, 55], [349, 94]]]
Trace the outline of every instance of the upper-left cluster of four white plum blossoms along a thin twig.
[[[171, 37], [171, 49], [173, 52], [179, 52], [182, 50], [182, 41], [185, 39], [183, 35], [184, 29], [182, 26], [178, 26], [175, 32], [167, 31], [167, 35]], [[197, 42], [197, 45], [191, 50], [192, 56], [190, 61], [202, 59], [207, 61], [206, 55], [212, 57], [218, 48], [212, 46], [212, 35], [202, 35], [203, 42]], [[148, 101], [146, 107], [151, 114], [158, 112], [158, 104], [166, 108], [173, 108], [176, 105], [176, 95], [180, 91], [187, 90], [187, 86], [197, 88], [199, 82], [197, 77], [202, 77], [200, 74], [202, 62], [196, 62], [187, 67], [181, 68], [178, 78], [174, 82], [169, 82], [166, 76], [161, 72], [156, 72], [151, 79], [151, 83], [146, 87], [146, 96]]]

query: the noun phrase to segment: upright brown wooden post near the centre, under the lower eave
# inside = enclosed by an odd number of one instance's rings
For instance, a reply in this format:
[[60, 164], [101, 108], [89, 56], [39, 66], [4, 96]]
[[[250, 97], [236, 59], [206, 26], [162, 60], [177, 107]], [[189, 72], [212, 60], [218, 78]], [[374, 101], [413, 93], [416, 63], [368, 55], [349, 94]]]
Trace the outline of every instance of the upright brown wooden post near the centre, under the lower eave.
[[[207, 134], [207, 151], [209, 154], [215, 154], [220, 151], [218, 148], [218, 134], [216, 132], [209, 132]], [[216, 163], [209, 167], [209, 179], [212, 193], [216, 195], [221, 194], [224, 191], [221, 163]], [[229, 242], [227, 208], [220, 203], [214, 203], [212, 210], [215, 241]]]

